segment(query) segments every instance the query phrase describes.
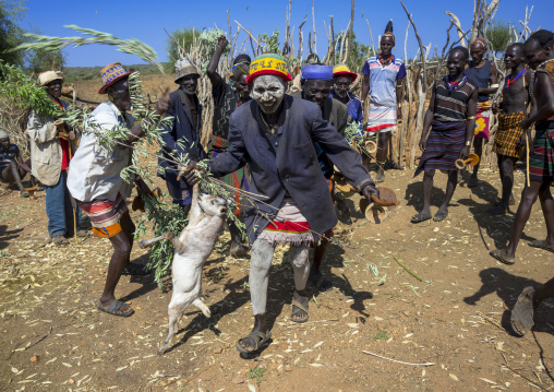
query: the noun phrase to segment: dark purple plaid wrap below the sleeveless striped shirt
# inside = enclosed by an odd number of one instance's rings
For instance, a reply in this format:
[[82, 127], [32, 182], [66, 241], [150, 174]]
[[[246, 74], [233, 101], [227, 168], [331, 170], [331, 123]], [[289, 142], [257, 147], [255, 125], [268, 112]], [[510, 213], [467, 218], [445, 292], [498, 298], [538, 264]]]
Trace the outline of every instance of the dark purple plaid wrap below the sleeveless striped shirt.
[[413, 177], [423, 170], [454, 171], [466, 141], [466, 121], [439, 122], [434, 120], [429, 132], [427, 144]]

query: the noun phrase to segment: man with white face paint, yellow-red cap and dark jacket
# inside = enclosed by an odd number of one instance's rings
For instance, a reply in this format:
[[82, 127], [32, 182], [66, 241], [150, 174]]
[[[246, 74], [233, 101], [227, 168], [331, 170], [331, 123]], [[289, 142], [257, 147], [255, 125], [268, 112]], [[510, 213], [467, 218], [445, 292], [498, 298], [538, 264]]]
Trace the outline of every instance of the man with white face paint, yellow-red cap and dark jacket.
[[[208, 162], [216, 177], [249, 164], [251, 191], [262, 195], [244, 213], [252, 246], [249, 283], [255, 321], [252, 332], [237, 342], [241, 353], [258, 349], [272, 336], [266, 321], [267, 285], [278, 243], [290, 243], [296, 286], [291, 320], [305, 322], [309, 318], [304, 290], [309, 247], [337, 223], [314, 143], [361, 194], [378, 197], [360, 155], [322, 118], [320, 107], [285, 94], [290, 80], [280, 56], [268, 54], [254, 59], [246, 81], [253, 83], [254, 100], [231, 115], [230, 145]], [[186, 175], [193, 182], [194, 167], [192, 163]]]

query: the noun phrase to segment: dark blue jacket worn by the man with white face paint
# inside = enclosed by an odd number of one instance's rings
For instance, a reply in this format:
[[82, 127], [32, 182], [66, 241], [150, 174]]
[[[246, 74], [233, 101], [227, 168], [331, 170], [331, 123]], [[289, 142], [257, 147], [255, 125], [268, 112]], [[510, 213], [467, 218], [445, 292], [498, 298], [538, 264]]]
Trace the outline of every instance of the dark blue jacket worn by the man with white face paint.
[[[314, 142], [358, 191], [371, 182], [360, 154], [322, 118], [320, 107], [302, 98], [285, 95], [278, 130], [273, 135], [263, 126], [257, 103], [251, 100], [242, 105], [230, 117], [229, 142], [226, 152], [209, 161], [213, 175], [222, 177], [249, 164], [250, 191], [266, 197], [261, 199], [266, 204], [256, 203], [262, 213], [244, 209], [250, 243], [267, 226], [264, 215], [276, 215], [287, 191], [313, 231], [323, 234], [337, 224]], [[314, 234], [314, 237], [317, 236]]]

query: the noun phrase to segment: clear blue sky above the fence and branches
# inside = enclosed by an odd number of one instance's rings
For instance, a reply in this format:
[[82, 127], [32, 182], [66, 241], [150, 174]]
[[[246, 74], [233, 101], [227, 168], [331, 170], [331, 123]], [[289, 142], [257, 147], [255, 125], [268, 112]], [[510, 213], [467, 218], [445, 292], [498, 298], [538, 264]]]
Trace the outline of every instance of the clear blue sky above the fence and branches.
[[[490, 1], [490, 0], [489, 0]], [[472, 21], [473, 0], [459, 0], [449, 2], [406, 0], [406, 7], [412, 14], [424, 45], [432, 43], [442, 49], [446, 41], [446, 28], [449, 17], [444, 11], [455, 13], [461, 22], [463, 29], [468, 29]], [[523, 20], [526, 4], [534, 5], [530, 27], [537, 29], [552, 29], [552, 15], [554, 15], [553, 0], [534, 0], [534, 2], [521, 2], [516, 0], [502, 0], [496, 20], [518, 23]], [[232, 33], [237, 31], [237, 20], [244, 27], [252, 28], [254, 36], [266, 33], [272, 34], [276, 28], [285, 32], [285, 14], [288, 0], [274, 1], [202, 1], [202, 0], [159, 0], [159, 1], [84, 1], [84, 0], [58, 0], [56, 2], [45, 0], [29, 0], [27, 2], [26, 17], [21, 22], [22, 27], [39, 28], [45, 35], [73, 36], [75, 33], [63, 25], [75, 24], [101, 32], [108, 32], [121, 38], [137, 38], [150, 45], [161, 61], [167, 61], [166, 39], [164, 27], [171, 32], [181, 27], [215, 27], [216, 25], [227, 32], [227, 9], [230, 9]], [[312, 29], [312, 2], [309, 0], [293, 0], [291, 25], [294, 28], [294, 43], [298, 47], [298, 25], [308, 14], [308, 22], [302, 31], [304, 40], [308, 40], [308, 32]], [[350, 20], [350, 1], [315, 0], [315, 27], [317, 32], [317, 52], [325, 55], [327, 51], [327, 38], [323, 22], [328, 25], [329, 15], [334, 15], [335, 34], [346, 29]], [[395, 52], [404, 56], [404, 41], [408, 17], [399, 0], [385, 1], [356, 1], [354, 32], [358, 40], [370, 44], [371, 38], [365, 20], [369, 21], [373, 39], [383, 34], [385, 25], [393, 19], [396, 34]], [[451, 31], [454, 33], [454, 29]], [[245, 38], [241, 33], [242, 39]], [[239, 37], [239, 40], [242, 41]], [[408, 57], [412, 58], [417, 51], [417, 40], [413, 29], [410, 28], [408, 37]], [[298, 50], [298, 49], [297, 49]], [[141, 63], [141, 59], [118, 52], [107, 46], [86, 46], [65, 49], [68, 67], [93, 67], [105, 66], [110, 62]], [[304, 50], [305, 56], [305, 50]]]

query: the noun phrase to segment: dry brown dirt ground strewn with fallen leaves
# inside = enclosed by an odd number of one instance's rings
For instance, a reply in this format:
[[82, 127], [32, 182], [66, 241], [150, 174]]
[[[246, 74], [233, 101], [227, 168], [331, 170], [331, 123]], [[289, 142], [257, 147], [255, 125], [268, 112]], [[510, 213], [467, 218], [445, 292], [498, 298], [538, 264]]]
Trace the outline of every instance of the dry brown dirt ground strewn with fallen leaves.
[[[489, 257], [504, 246], [514, 213], [486, 213], [496, 201], [496, 173], [478, 188], [462, 181], [443, 223], [409, 222], [421, 206], [421, 177], [390, 173], [385, 182], [401, 205], [381, 225], [349, 201], [354, 223], [339, 224], [324, 272], [335, 289], [309, 286], [310, 320], [290, 322], [292, 272], [286, 249], [269, 278], [273, 342], [257, 356], [234, 348], [252, 325], [249, 258], [228, 256], [221, 237], [204, 268], [207, 319], [189, 308], [173, 347], [167, 334], [171, 292], [150, 276], [123, 276], [117, 295], [135, 309], [128, 318], [96, 310], [111, 253], [108, 240], [47, 242], [44, 192], [0, 195], [0, 390], [2, 391], [534, 391], [554, 389], [552, 301], [533, 333], [510, 333], [509, 312], [521, 289], [552, 277], [554, 256], [527, 246], [545, 236], [539, 205], [507, 266]], [[467, 176], [465, 176], [467, 179]], [[517, 174], [518, 188], [523, 176]], [[437, 175], [444, 187], [446, 176]], [[433, 193], [436, 211], [444, 192]], [[136, 212], [132, 217], [136, 221]], [[358, 253], [359, 256], [357, 256]], [[132, 259], [145, 262], [136, 246]], [[410, 275], [396, 261], [421, 277]], [[372, 269], [371, 263], [376, 269]], [[170, 278], [166, 278], [170, 285]], [[398, 364], [364, 354], [371, 352]], [[419, 364], [414, 365], [414, 364]], [[429, 366], [421, 366], [425, 364]]]

